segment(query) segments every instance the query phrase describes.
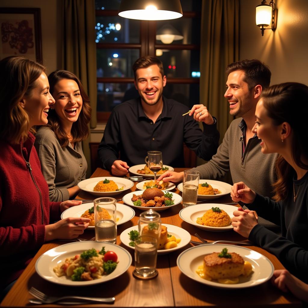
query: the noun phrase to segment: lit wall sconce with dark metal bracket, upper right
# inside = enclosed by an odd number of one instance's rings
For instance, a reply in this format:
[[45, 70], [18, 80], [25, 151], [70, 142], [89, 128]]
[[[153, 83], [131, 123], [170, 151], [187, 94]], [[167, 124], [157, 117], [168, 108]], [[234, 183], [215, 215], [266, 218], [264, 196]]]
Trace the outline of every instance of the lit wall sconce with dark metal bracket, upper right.
[[[272, 29], [273, 31], [277, 27], [277, 13], [278, 10], [274, 9], [274, 1], [271, 0], [270, 4], [267, 4], [265, 0], [256, 7], [256, 25], [261, 29], [262, 36], [264, 30]], [[265, 28], [271, 25], [271, 28]]]

